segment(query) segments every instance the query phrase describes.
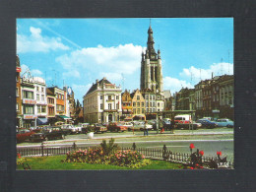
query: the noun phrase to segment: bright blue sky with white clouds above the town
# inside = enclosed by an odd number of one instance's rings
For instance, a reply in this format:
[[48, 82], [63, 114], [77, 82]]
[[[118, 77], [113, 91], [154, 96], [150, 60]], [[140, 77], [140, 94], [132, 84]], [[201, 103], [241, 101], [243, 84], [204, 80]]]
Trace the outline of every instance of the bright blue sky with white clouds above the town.
[[140, 89], [141, 53], [151, 25], [160, 49], [163, 90], [194, 88], [233, 74], [232, 18], [17, 19], [22, 75], [71, 87], [81, 102], [96, 79]]

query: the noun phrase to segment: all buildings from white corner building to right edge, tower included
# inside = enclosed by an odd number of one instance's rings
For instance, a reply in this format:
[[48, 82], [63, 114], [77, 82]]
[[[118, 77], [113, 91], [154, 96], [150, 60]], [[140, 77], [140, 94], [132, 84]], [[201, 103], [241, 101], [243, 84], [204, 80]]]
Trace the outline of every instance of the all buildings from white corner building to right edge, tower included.
[[[194, 89], [182, 88], [171, 96], [163, 91], [160, 50], [156, 52], [151, 26], [147, 49], [142, 52], [140, 90], [122, 93], [106, 78], [96, 80], [83, 98], [86, 122], [110, 122], [123, 119], [154, 118], [159, 111], [195, 111], [193, 117], [233, 119], [233, 76], [212, 77], [200, 81]], [[156, 116], [155, 116], [156, 118]]]

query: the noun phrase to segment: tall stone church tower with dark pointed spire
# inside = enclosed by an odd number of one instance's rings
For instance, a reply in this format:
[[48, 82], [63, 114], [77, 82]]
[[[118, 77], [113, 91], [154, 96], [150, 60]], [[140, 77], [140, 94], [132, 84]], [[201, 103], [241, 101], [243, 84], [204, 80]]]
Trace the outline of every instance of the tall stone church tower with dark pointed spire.
[[160, 50], [156, 53], [151, 25], [148, 30], [146, 53], [142, 52], [141, 90], [150, 89], [154, 93], [163, 93]]

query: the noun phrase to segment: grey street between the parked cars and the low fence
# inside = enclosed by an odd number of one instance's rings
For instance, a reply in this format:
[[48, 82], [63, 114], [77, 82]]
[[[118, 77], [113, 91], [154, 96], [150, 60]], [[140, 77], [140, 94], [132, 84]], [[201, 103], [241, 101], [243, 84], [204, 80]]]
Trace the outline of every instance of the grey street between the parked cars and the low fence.
[[[189, 154], [189, 145], [193, 143], [195, 149], [203, 150], [205, 157], [216, 157], [217, 151], [222, 151], [223, 157], [233, 160], [233, 129], [198, 129], [198, 130], [175, 130], [174, 134], [165, 131], [157, 134], [157, 131], [149, 131], [149, 136], [144, 136], [142, 131], [122, 132], [122, 133], [99, 133], [95, 134], [94, 139], [88, 139], [86, 134], [68, 135], [64, 140], [54, 140], [43, 142], [45, 147], [64, 147], [72, 146], [76, 143], [80, 146], [98, 146], [102, 139], [115, 139], [115, 143], [120, 147], [132, 147], [133, 143], [137, 148], [162, 149], [163, 145], [167, 150], [174, 153]], [[41, 143], [18, 144], [17, 148], [38, 148]]]

